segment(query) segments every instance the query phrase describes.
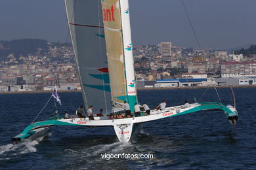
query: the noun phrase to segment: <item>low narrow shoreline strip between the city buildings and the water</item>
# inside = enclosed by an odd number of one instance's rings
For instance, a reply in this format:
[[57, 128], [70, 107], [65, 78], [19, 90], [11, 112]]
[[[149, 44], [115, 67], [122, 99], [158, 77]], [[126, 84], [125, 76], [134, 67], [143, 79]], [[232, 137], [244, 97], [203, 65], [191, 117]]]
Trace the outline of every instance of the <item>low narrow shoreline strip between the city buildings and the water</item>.
[[[137, 88], [139, 91], [144, 90], [181, 90], [181, 89], [204, 89], [204, 88], [230, 88], [230, 86], [194, 86], [194, 87], [173, 87], [173, 88]], [[253, 85], [245, 86], [231, 86], [232, 88], [256, 88]], [[20, 92], [0, 92], [0, 94], [13, 94], [13, 93], [53, 93], [51, 90], [47, 91], [20, 91]], [[81, 90], [58, 90], [58, 93], [81, 93]]]

